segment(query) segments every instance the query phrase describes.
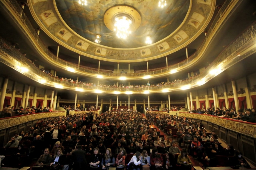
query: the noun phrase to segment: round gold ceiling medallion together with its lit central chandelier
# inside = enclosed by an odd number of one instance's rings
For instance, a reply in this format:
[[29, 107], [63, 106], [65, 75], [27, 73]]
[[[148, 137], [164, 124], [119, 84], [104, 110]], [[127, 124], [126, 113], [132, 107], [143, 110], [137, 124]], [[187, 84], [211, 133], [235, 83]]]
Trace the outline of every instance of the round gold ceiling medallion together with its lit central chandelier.
[[114, 6], [104, 14], [104, 23], [118, 38], [125, 39], [141, 25], [141, 15], [129, 6]]

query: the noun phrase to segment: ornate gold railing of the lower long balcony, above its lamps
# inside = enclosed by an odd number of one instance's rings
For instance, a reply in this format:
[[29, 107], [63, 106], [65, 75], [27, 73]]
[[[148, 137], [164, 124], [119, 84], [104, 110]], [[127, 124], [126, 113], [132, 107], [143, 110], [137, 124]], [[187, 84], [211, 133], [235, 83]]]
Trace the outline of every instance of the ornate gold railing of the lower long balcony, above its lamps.
[[[143, 91], [150, 91], [150, 93], [159, 93], [163, 89], [168, 89], [168, 91], [175, 91], [175, 90], [181, 90], [180, 88], [182, 86], [189, 85], [189, 88], [199, 86], [200, 84], [197, 84], [199, 80], [202, 81], [203, 78], [206, 78], [204, 80], [204, 83], [209, 81], [211, 78], [215, 77], [216, 75], [209, 74], [209, 70], [216, 69], [221, 67], [221, 72], [227, 69], [228, 67], [232, 66], [233, 64], [237, 63], [238, 61], [242, 60], [243, 58], [247, 57], [246, 55], [242, 55], [237, 57], [236, 59], [230, 60], [231, 57], [237, 56], [239, 51], [242, 49], [248, 48], [249, 45], [253, 44], [253, 41], [256, 39], [256, 22], [253, 23], [248, 29], [246, 29], [237, 39], [235, 39], [229, 46], [227, 46], [221, 54], [216, 57], [216, 59], [204, 70], [203, 73], [200, 75], [197, 75], [193, 77], [192, 79], [187, 79], [181, 82], [177, 82], [174, 84], [168, 84], [163, 86], [150, 86], [150, 87], [141, 87], [141, 88], [111, 88], [111, 87], [98, 87], [98, 86], [87, 86], [85, 84], [79, 84], [79, 83], [72, 83], [68, 81], [62, 81], [61, 79], [51, 77], [45, 73], [43, 73], [41, 70], [39, 70], [37, 67], [35, 67], [31, 62], [28, 61], [28, 59], [22, 55], [19, 51], [17, 51], [13, 46], [8, 44], [5, 40], [0, 38], [0, 51], [8, 56], [9, 59], [15, 61], [16, 63], [19, 63], [23, 65], [24, 67], [28, 68], [30, 70], [30, 75], [33, 74], [38, 78], [33, 78], [35, 81], [40, 82], [41, 79], [46, 80], [47, 82], [44, 83], [45, 85], [48, 84], [61, 84], [63, 85], [63, 88], [71, 89], [71, 90], [77, 90], [77, 88], [85, 89], [85, 90], [102, 90], [103, 93], [114, 93], [114, 91], [133, 91], [134, 93], [143, 93]], [[17, 66], [16, 66], [17, 67]], [[15, 66], [14, 66], [15, 68]], [[16, 68], [17, 69], [17, 68]], [[155, 91], [155, 92], [154, 92]], [[98, 92], [99, 93], [99, 92]]]

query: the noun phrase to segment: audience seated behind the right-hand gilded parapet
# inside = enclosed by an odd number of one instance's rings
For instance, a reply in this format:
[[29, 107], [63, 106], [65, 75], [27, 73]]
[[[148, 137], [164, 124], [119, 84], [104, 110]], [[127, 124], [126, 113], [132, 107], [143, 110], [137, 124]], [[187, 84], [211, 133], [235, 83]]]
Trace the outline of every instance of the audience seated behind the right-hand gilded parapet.
[[206, 115], [213, 115], [218, 117], [224, 117], [227, 119], [234, 119], [239, 120], [243, 122], [252, 122], [256, 123], [256, 112], [255, 109], [239, 109], [238, 111], [235, 111], [233, 108], [227, 109], [226, 107], [222, 108], [193, 108], [189, 111], [189, 113], [200, 113], [200, 114], [206, 114]]

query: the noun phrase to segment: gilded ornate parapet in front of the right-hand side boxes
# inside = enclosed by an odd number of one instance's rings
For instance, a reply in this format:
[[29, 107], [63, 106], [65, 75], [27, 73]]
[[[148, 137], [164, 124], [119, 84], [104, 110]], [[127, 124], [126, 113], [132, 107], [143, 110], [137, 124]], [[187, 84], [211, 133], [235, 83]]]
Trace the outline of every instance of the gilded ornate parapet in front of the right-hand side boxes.
[[251, 137], [256, 138], [256, 124], [248, 124], [243, 122], [237, 122], [233, 120], [227, 120], [220, 117], [203, 115], [203, 114], [195, 114], [195, 113], [181, 113], [179, 112], [178, 116], [188, 117], [192, 119], [204, 120], [207, 122], [211, 122], [222, 126], [226, 129], [230, 129], [232, 131], [236, 131]]

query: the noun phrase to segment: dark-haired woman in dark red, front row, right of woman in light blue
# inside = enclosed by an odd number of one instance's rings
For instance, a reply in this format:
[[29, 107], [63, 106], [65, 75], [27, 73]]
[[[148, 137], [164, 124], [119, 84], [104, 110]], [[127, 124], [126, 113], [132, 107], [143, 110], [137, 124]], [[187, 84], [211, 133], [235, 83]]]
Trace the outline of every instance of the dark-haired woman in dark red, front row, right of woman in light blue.
[[159, 170], [163, 168], [163, 158], [161, 154], [157, 152], [157, 148], [152, 149], [152, 154], [150, 155], [150, 164], [152, 170]]

